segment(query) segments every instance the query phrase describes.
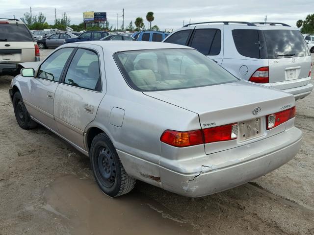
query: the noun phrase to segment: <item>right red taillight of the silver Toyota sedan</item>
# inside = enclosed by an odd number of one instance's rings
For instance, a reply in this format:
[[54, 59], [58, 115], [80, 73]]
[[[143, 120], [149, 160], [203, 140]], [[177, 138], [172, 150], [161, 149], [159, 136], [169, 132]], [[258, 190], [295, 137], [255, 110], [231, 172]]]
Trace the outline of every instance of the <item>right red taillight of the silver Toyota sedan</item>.
[[290, 109], [266, 116], [266, 129], [272, 129], [295, 117], [295, 106]]

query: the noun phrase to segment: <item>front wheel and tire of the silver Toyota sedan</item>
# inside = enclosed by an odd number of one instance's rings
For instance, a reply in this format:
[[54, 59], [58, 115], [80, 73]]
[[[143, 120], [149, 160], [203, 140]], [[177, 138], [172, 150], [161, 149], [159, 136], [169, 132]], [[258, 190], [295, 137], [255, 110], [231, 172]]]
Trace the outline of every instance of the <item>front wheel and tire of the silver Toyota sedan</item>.
[[16, 121], [21, 128], [28, 130], [37, 126], [37, 122], [30, 118], [20, 92], [16, 92], [13, 95], [13, 109]]

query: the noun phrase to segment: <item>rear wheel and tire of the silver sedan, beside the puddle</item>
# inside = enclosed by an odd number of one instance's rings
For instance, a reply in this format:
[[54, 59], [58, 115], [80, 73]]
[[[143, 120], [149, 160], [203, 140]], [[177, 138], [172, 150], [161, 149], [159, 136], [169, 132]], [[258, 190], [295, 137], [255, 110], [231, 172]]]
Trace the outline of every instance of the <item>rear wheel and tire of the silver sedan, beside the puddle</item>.
[[113, 143], [105, 133], [93, 139], [89, 156], [95, 180], [107, 196], [121, 196], [134, 188], [136, 180], [125, 171]]

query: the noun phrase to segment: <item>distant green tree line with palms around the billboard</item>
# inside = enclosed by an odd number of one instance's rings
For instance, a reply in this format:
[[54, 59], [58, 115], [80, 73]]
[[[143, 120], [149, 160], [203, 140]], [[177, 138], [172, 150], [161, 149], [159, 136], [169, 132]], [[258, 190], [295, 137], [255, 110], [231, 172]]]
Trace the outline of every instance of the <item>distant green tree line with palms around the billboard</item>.
[[[55, 18], [54, 24], [48, 24], [46, 22], [46, 17], [42, 12], [39, 12], [38, 15], [31, 15], [30, 12], [24, 13], [23, 17], [20, 18], [21, 21], [23, 21], [29, 29], [37, 29], [37, 30], [43, 30], [45, 28], [57, 28], [59, 30], [66, 30], [66, 27], [71, 27], [74, 31], [81, 31], [85, 29], [85, 24], [71, 24], [71, 17], [68, 16], [66, 12], [63, 12], [61, 18]], [[152, 22], [155, 20], [154, 12], [148, 12], [146, 15], [146, 20], [148, 21], [148, 29], [158, 31], [159, 27], [157, 25], [152, 26]], [[119, 29], [113, 28], [113, 25], [110, 24], [110, 22], [107, 20], [105, 24], [88, 24], [87, 25], [88, 30], [105, 30], [105, 31], [118, 31]], [[122, 26], [121, 28], [122, 29]], [[146, 30], [144, 20], [142, 17], [137, 17], [135, 19], [134, 25], [131, 21], [130, 24], [128, 24], [124, 30], [126, 31], [140, 31], [140, 30]]]

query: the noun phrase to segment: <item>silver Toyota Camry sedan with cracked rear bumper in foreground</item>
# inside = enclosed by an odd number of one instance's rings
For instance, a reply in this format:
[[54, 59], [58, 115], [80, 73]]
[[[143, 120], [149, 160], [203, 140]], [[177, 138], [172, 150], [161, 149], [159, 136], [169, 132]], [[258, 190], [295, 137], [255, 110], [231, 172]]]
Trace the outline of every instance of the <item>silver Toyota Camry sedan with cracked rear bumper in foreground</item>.
[[9, 94], [20, 127], [40, 123], [89, 156], [110, 197], [136, 179], [188, 197], [233, 188], [287, 163], [302, 139], [293, 95], [181, 45], [66, 44]]

